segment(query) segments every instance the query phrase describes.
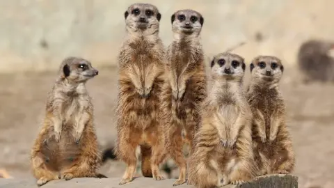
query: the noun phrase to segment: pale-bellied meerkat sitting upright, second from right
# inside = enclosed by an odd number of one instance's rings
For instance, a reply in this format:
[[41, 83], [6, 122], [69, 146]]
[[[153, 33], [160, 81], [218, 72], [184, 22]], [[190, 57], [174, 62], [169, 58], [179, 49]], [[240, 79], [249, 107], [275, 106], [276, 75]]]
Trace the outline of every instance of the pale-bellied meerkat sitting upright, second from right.
[[244, 58], [237, 54], [221, 53], [212, 60], [212, 90], [202, 106], [196, 148], [189, 158], [190, 185], [222, 187], [257, 175], [252, 112], [242, 86], [245, 68]]

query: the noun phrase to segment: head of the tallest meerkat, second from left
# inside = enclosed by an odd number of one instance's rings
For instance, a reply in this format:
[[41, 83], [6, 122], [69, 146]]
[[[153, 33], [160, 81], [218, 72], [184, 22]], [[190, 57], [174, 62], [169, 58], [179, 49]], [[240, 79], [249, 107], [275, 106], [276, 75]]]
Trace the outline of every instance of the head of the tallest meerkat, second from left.
[[150, 3], [134, 3], [124, 13], [128, 31], [159, 31], [161, 14]]

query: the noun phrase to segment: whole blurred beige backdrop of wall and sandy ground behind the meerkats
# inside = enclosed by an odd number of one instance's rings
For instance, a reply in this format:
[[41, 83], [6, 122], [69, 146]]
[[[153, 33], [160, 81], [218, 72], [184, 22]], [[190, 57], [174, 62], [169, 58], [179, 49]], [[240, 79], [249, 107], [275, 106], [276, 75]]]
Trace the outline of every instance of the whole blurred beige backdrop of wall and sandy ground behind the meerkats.
[[[47, 92], [66, 56], [87, 58], [100, 71], [88, 81], [88, 92], [95, 104], [101, 149], [107, 154], [113, 147], [116, 56], [125, 36], [124, 12], [135, 2], [159, 8], [160, 36], [166, 46], [173, 40], [170, 16], [191, 8], [205, 19], [201, 41], [207, 61], [240, 42], [245, 45], [233, 52], [244, 56], [248, 68], [260, 54], [281, 58], [285, 72], [280, 88], [296, 152], [294, 174], [300, 187], [334, 187], [334, 86], [330, 79], [315, 79], [317, 74], [331, 77], [334, 73], [333, 45], [321, 47], [334, 40], [332, 0], [0, 1], [0, 173], [5, 178], [32, 178], [31, 146], [40, 129]], [[299, 52], [308, 40], [319, 42]], [[308, 62], [306, 70], [301, 69], [304, 62]], [[171, 170], [166, 177], [178, 175], [173, 162], [161, 168], [166, 173]], [[125, 164], [112, 157], [100, 169], [109, 177], [121, 177], [124, 170]]]

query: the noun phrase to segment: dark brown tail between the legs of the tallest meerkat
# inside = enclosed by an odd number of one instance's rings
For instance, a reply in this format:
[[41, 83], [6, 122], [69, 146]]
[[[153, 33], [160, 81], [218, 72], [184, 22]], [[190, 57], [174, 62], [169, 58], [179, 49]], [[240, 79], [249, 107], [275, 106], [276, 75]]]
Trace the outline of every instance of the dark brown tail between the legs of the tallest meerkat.
[[152, 148], [150, 146], [141, 146], [141, 173], [144, 177], [152, 178], [151, 169]]

